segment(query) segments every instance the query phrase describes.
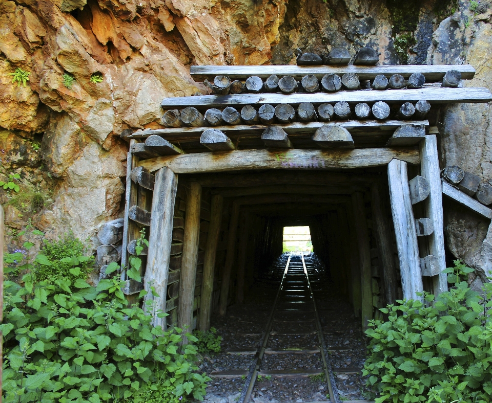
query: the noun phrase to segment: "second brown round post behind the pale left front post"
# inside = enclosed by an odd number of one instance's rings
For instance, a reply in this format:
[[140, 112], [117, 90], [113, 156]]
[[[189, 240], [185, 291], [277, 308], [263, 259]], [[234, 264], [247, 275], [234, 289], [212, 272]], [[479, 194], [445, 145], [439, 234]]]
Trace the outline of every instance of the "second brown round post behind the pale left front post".
[[222, 221], [223, 197], [220, 194], [212, 196], [210, 208], [210, 225], [203, 258], [203, 280], [201, 282], [200, 312], [198, 315], [198, 330], [208, 331], [212, 310], [212, 294], [214, 290], [215, 255]]

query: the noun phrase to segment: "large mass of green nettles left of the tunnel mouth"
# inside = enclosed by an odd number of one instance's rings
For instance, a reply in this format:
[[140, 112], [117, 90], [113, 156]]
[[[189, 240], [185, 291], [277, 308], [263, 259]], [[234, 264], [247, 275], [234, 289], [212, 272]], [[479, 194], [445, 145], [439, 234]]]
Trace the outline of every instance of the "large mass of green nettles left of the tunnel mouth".
[[[42, 254], [36, 260], [53, 265]], [[6, 273], [18, 270], [15, 262], [9, 263]], [[20, 284], [5, 281], [0, 325], [4, 403], [178, 403], [189, 395], [203, 399], [210, 378], [196, 372], [196, 348], [181, 345], [181, 329], [153, 327], [152, 316], [137, 304], [128, 305], [119, 270], [116, 263], [109, 264], [106, 274], [114, 277], [97, 287], [83, 278], [38, 281], [31, 273]], [[135, 267], [131, 271], [135, 273]], [[150, 294], [140, 293], [146, 311], [155, 309], [155, 296], [153, 287]], [[167, 316], [162, 311], [157, 315]], [[191, 334], [187, 337], [197, 341]]]

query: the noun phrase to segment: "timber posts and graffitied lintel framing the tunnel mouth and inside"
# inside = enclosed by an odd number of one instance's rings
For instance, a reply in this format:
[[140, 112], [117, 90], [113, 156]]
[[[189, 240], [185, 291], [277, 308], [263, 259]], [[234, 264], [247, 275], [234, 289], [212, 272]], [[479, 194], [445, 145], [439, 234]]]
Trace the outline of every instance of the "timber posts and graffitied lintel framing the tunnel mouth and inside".
[[[135, 140], [131, 140], [131, 143]], [[419, 256], [416, 224], [410, 189], [407, 177], [407, 165], [419, 165], [421, 175], [426, 178], [430, 186], [430, 193], [423, 205], [426, 217], [432, 220], [434, 231], [426, 236], [427, 256]], [[153, 187], [152, 209], [150, 215], [150, 235], [147, 265], [144, 275], [144, 288], [150, 289], [152, 285], [159, 297], [154, 297], [155, 308], [166, 311], [166, 295], [171, 258], [171, 243], [173, 231], [174, 204], [179, 173], [212, 173], [237, 170], [265, 170], [284, 169], [291, 171], [320, 171], [329, 172], [334, 169], [349, 169], [362, 167], [387, 166], [388, 184], [391, 199], [391, 210], [397, 241], [399, 256], [399, 270], [402, 280], [404, 298], [420, 298], [417, 293], [423, 291], [422, 269], [425, 259], [432, 257], [433, 288], [435, 293], [447, 290], [446, 275], [441, 272], [445, 268], [443, 211], [442, 211], [442, 183], [440, 178], [437, 139], [435, 135], [426, 135], [420, 142], [419, 148], [378, 148], [378, 149], [353, 149], [353, 150], [244, 150], [224, 151], [212, 153], [179, 154], [162, 156], [149, 160], [138, 161], [131, 152], [128, 154], [127, 184], [131, 184], [130, 173], [133, 168], [141, 166], [155, 174]], [[313, 172], [314, 173], [314, 172]], [[354, 185], [354, 184], [351, 184]], [[367, 184], [365, 184], [367, 186]], [[127, 185], [126, 209], [125, 209], [125, 233], [124, 253], [122, 254], [122, 266], [127, 264], [126, 248], [132, 222], [128, 218], [130, 206], [136, 204], [136, 193]], [[379, 208], [381, 204], [381, 192], [378, 184], [370, 186], [372, 197], [373, 216], [376, 225], [378, 247], [383, 260], [383, 281], [395, 282], [395, 273], [391, 273], [394, 267], [392, 256], [392, 241], [389, 237], [389, 225], [391, 223], [384, 217]], [[268, 191], [268, 190], [265, 190]], [[133, 194], [132, 194], [133, 192]], [[223, 197], [232, 194], [232, 189], [225, 190], [223, 194], [212, 194], [211, 221], [209, 236], [204, 251], [204, 265], [202, 277], [202, 294], [197, 324], [200, 329], [210, 326], [210, 314], [213, 291], [213, 271], [215, 266], [215, 252], [217, 249], [220, 218], [222, 216]], [[244, 193], [244, 191], [243, 191]], [[246, 192], [248, 193], [248, 192]], [[329, 193], [329, 192], [328, 192]], [[230, 226], [228, 250], [232, 250], [236, 234], [231, 232], [237, 229], [237, 220], [240, 219], [240, 206], [265, 203], [265, 197], [261, 195], [244, 194], [243, 199], [236, 199], [232, 204], [233, 224]], [[198, 182], [190, 182], [190, 190], [187, 199], [187, 213], [185, 218], [185, 235], [183, 239], [182, 265], [180, 271], [180, 290], [178, 305], [178, 326], [193, 323], [193, 296], [195, 289], [195, 277], [198, 258], [198, 228], [200, 224], [200, 197], [201, 185]], [[305, 196], [304, 196], [305, 197]], [[268, 197], [267, 197], [268, 198]], [[319, 195], [317, 198], [332, 200], [334, 203], [345, 204], [353, 210], [356, 222], [356, 238], [359, 244], [359, 266], [361, 273], [361, 298], [362, 301], [372, 300], [371, 292], [371, 256], [368, 243], [367, 224], [365, 220], [363, 193], [361, 188], [352, 186], [345, 196]], [[278, 199], [278, 198], [277, 198]], [[292, 196], [289, 196], [292, 199]], [[303, 201], [303, 195], [295, 196], [299, 203]], [[135, 238], [135, 236], [133, 237]], [[228, 274], [230, 276], [234, 256], [226, 255], [225, 277], [220, 293], [219, 311], [224, 314], [227, 308]], [[427, 275], [429, 275], [427, 273]], [[125, 280], [125, 274], [122, 273]], [[127, 294], [132, 286], [132, 281], [127, 280]], [[394, 289], [393, 286], [389, 287]], [[393, 293], [389, 291], [389, 293]], [[390, 298], [394, 299], [390, 296]], [[367, 324], [373, 317], [372, 303], [362, 304], [362, 323]], [[166, 321], [158, 318], [155, 312], [154, 325], [166, 327]]]

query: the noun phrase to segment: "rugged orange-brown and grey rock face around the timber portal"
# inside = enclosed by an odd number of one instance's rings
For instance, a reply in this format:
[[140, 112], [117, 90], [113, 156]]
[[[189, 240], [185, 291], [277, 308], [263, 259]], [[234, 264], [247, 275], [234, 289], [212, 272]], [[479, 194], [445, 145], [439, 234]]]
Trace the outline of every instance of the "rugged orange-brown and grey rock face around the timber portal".
[[[492, 79], [492, 6], [437, 0], [58, 0], [0, 3], [0, 179], [19, 173], [47, 193], [31, 212], [55, 236], [95, 237], [121, 216], [125, 129], [159, 128], [163, 97], [208, 90], [191, 64], [295, 64], [294, 50], [346, 47], [379, 52], [382, 64], [470, 63]], [[26, 86], [12, 83], [15, 69]], [[94, 77], [100, 77], [95, 80]], [[442, 167], [460, 165], [492, 180], [492, 108], [452, 105], [442, 111]], [[27, 185], [26, 185], [27, 186]], [[0, 202], [9, 195], [0, 190]], [[8, 225], [27, 215], [9, 207]], [[22, 217], [19, 217], [19, 214]], [[17, 218], [15, 218], [17, 217]], [[492, 274], [488, 222], [445, 204], [451, 254]]]

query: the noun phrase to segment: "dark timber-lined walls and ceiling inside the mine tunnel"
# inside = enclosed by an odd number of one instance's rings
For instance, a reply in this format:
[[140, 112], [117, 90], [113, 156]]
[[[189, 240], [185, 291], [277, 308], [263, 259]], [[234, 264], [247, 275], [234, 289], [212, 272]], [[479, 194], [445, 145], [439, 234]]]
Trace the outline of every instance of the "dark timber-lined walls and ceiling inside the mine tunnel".
[[[408, 176], [416, 174], [418, 168], [410, 167]], [[183, 229], [179, 227], [184, 227], [186, 220], [191, 182], [201, 185], [194, 326], [200, 312], [211, 205], [217, 195], [222, 197], [222, 209], [215, 252], [212, 314], [221, 310], [223, 315], [229, 306], [242, 304], [245, 296], [255, 293], [258, 282], [282, 255], [284, 227], [295, 226], [309, 227], [313, 253], [333, 285], [333, 293], [352, 305], [355, 317], [359, 318], [365, 307], [366, 317], [381, 318], [379, 308], [402, 298], [385, 167], [180, 175], [171, 274], [181, 263]], [[415, 211], [418, 218], [419, 206]], [[424, 212], [421, 213], [423, 216]], [[424, 283], [424, 289], [432, 292], [432, 284]], [[167, 298], [179, 298], [178, 284], [168, 284]], [[177, 303], [171, 301], [167, 306], [171, 308], [168, 308], [167, 322], [173, 325]], [[368, 306], [372, 307], [370, 314]]]

